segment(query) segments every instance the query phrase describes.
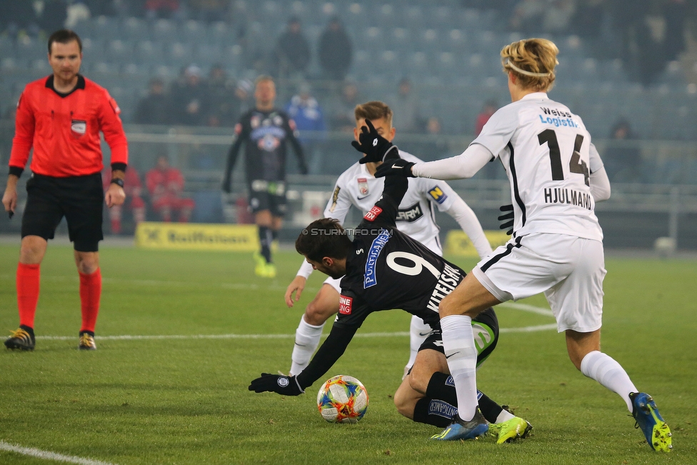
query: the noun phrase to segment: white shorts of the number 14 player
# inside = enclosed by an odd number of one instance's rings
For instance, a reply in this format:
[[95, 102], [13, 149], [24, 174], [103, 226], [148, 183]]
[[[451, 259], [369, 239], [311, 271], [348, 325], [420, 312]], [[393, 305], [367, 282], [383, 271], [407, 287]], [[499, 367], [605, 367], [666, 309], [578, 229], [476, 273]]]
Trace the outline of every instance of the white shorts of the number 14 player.
[[543, 292], [560, 333], [588, 333], [602, 326], [607, 270], [601, 241], [528, 234], [498, 247], [472, 273], [500, 301]]

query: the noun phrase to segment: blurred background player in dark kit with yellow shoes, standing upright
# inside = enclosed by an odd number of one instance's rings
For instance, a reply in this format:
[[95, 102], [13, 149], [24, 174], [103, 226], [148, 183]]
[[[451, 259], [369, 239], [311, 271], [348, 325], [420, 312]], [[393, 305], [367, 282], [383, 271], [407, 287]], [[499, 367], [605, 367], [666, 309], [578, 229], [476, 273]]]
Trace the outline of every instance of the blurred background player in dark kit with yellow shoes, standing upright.
[[230, 147], [223, 190], [231, 190], [231, 173], [242, 144], [249, 191], [249, 207], [259, 227], [261, 251], [254, 254], [257, 276], [273, 278], [276, 266], [271, 261], [271, 242], [276, 239], [286, 213], [286, 146], [293, 146], [300, 172], [307, 174], [302, 146], [296, 138], [295, 123], [274, 108], [276, 86], [269, 76], [256, 79], [256, 108], [241, 116], [235, 126], [236, 140]]

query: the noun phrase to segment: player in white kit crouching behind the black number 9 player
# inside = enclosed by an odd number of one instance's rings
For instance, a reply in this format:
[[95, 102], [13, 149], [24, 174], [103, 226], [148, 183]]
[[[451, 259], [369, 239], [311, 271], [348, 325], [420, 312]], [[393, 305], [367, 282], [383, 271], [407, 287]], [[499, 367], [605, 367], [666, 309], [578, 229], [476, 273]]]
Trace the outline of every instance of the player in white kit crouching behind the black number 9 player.
[[[354, 139], [358, 141], [361, 126], [366, 119], [370, 120], [381, 136], [392, 141], [395, 129], [392, 127], [392, 110], [381, 101], [370, 101], [356, 106], [356, 129]], [[415, 156], [399, 151], [399, 156], [409, 161], [420, 161]], [[324, 210], [326, 218], [338, 219], [344, 224], [346, 214], [351, 206], [358, 208], [361, 213], [370, 210], [380, 198], [384, 179], [376, 179], [373, 174], [379, 163], [361, 164], [356, 162], [339, 176], [334, 186], [334, 192]], [[469, 236], [479, 256], [482, 258], [491, 252], [491, 246], [484, 236], [481, 224], [465, 201], [443, 181], [431, 179], [410, 179], [408, 190], [399, 204], [397, 229], [416, 239], [438, 255], [443, 254], [438, 239], [438, 225], [435, 221], [435, 211], [443, 211], [455, 219], [463, 231]], [[297, 276], [286, 289], [285, 300], [289, 307], [300, 299], [307, 278], [312, 273], [312, 265], [303, 260]], [[301, 373], [309, 364], [312, 354], [319, 345], [324, 323], [330, 316], [339, 311], [339, 296], [341, 294], [341, 279], [328, 278], [320, 291], [308, 304], [305, 314], [296, 330], [295, 346], [291, 356], [291, 376]], [[295, 297], [293, 294], [295, 293]], [[413, 365], [418, 348], [431, 332], [431, 327], [424, 324], [417, 316], [412, 316], [410, 331], [409, 360], [404, 373]]]

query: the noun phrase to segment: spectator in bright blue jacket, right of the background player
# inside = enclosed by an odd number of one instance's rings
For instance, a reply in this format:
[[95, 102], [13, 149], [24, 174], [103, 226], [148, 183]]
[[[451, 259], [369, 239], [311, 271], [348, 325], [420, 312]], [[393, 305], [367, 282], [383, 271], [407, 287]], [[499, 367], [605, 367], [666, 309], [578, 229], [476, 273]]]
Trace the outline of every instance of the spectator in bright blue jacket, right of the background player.
[[291, 98], [286, 105], [286, 113], [295, 121], [296, 128], [302, 134], [299, 137], [305, 154], [309, 156], [310, 172], [319, 174], [322, 166], [322, 149], [326, 139], [326, 123], [324, 113], [317, 99], [312, 96], [312, 89], [307, 83], [299, 86], [298, 94]]

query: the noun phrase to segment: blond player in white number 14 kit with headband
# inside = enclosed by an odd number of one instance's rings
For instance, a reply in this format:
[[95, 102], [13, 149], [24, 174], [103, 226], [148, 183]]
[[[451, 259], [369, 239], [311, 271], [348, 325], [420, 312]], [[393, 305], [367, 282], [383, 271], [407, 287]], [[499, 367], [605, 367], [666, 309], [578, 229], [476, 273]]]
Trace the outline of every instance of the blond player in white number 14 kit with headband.
[[438, 308], [458, 415], [433, 439], [472, 439], [488, 429], [477, 409], [471, 318], [502, 301], [544, 292], [576, 368], [619, 394], [651, 448], [668, 452], [671, 432], [651, 396], [638, 392], [622, 366], [600, 351], [606, 269], [593, 209], [609, 198], [610, 182], [581, 118], [546, 94], [557, 54], [546, 39], [503, 47], [512, 103], [491, 116], [463, 154], [430, 163], [396, 161], [376, 173], [462, 179], [498, 158], [511, 184], [513, 238], [480, 261]]

